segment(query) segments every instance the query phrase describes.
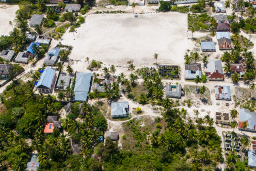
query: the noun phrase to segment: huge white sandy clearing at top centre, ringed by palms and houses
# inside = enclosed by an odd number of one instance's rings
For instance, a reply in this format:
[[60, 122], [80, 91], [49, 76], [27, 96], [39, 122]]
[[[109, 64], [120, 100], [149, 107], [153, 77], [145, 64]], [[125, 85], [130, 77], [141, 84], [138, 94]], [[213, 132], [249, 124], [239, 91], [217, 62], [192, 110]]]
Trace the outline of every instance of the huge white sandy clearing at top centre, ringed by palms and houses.
[[194, 42], [186, 37], [187, 14], [155, 13], [89, 15], [77, 33], [63, 35], [62, 44], [72, 45], [70, 58], [86, 57], [107, 64], [124, 65], [133, 60], [136, 66], [158, 62], [184, 63], [186, 49]]

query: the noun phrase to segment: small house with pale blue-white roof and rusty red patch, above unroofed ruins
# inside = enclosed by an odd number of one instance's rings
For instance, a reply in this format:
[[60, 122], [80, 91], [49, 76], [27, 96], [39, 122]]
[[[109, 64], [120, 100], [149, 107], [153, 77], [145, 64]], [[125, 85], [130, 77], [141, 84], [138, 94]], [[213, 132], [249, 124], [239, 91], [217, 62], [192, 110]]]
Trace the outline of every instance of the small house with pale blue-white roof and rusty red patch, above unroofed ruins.
[[231, 100], [231, 91], [229, 86], [215, 86], [216, 100]]

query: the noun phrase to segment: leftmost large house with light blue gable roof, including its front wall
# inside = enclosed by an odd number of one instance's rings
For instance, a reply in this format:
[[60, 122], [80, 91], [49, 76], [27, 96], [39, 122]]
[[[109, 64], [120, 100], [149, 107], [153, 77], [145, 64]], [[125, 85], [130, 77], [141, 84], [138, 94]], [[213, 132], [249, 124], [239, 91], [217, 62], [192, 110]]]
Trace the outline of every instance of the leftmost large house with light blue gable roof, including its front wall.
[[47, 67], [41, 74], [39, 81], [36, 84], [36, 88], [41, 92], [51, 92], [54, 86], [55, 70]]

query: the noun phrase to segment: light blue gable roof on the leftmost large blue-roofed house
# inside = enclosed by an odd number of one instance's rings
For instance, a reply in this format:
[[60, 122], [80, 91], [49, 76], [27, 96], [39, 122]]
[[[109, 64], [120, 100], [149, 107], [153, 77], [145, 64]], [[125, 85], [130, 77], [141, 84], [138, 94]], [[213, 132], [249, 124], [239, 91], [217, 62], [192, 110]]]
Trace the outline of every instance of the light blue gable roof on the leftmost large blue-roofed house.
[[44, 70], [44, 72], [42, 72], [36, 87], [44, 86], [44, 87], [47, 87], [50, 89], [52, 80], [54, 79], [54, 76], [55, 76], [55, 70], [47, 67]]

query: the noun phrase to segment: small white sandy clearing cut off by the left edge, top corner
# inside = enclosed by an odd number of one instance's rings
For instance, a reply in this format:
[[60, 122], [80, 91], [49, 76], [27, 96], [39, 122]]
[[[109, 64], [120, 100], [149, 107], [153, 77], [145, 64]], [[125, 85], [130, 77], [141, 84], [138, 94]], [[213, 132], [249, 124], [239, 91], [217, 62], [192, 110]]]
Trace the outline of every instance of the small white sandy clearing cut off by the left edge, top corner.
[[13, 30], [12, 26], [9, 25], [9, 21], [13, 22], [16, 16], [15, 12], [18, 9], [18, 5], [0, 5], [0, 35], [8, 35]]

